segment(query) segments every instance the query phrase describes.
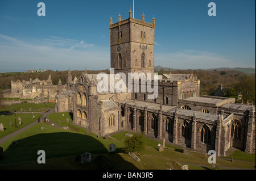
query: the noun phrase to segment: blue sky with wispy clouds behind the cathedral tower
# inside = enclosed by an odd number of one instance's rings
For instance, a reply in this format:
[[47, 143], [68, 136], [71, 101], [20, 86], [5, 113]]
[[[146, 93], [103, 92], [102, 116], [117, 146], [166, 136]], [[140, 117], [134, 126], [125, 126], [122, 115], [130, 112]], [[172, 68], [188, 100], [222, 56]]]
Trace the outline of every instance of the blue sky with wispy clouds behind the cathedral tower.
[[[39, 2], [46, 16], [38, 16]], [[209, 16], [209, 2], [216, 16]], [[155, 66], [255, 68], [254, 0], [134, 0], [136, 19], [156, 21]], [[110, 67], [109, 19], [133, 0], [0, 0], [0, 72]]]

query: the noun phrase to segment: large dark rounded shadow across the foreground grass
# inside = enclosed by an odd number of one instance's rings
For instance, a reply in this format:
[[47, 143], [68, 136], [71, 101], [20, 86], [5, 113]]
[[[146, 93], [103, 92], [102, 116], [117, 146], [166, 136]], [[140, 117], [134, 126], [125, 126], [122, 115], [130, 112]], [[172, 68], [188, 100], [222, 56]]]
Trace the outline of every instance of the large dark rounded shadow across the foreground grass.
[[[92, 136], [84, 134], [60, 132], [44, 133], [17, 140], [18, 145], [13, 146], [3, 152], [3, 159], [0, 161], [1, 169], [81, 169], [81, 164], [75, 162], [77, 155], [85, 152], [92, 154], [92, 163], [83, 165], [85, 169], [97, 170], [93, 163], [95, 155], [107, 154], [108, 150], [104, 145]], [[46, 153], [46, 164], [38, 164], [39, 150]], [[118, 152], [119, 151], [119, 152]], [[122, 149], [117, 149], [117, 153], [123, 153]], [[67, 157], [73, 159], [67, 159]], [[132, 163], [125, 161], [119, 154], [111, 154], [110, 161], [115, 163], [112, 169], [125, 167], [136, 170]], [[64, 163], [63, 163], [64, 162]], [[11, 164], [10, 164], [11, 163]], [[48, 163], [48, 164], [47, 164]], [[53, 164], [54, 163], [54, 164]], [[11, 166], [9, 166], [11, 165]]]

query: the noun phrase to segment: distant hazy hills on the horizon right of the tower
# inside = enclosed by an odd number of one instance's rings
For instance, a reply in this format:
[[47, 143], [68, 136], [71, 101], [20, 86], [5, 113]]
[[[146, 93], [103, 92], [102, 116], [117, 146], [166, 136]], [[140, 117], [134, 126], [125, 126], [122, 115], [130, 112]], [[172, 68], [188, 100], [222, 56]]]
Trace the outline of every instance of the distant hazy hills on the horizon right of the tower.
[[[171, 69], [171, 71], [174, 71], [177, 69]], [[237, 70], [237, 71], [242, 71], [245, 74], [255, 74], [255, 69], [254, 68], [214, 68], [214, 69], [203, 69], [205, 71], [222, 71], [222, 70]], [[169, 71], [169, 68], [164, 68], [163, 66], [155, 66], [155, 71]]]

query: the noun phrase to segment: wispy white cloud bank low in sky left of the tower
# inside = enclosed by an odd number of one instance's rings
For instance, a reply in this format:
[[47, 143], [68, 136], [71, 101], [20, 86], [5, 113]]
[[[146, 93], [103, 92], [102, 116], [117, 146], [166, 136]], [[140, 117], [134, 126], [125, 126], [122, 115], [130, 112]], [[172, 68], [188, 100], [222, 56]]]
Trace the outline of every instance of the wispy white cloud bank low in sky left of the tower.
[[40, 68], [67, 70], [68, 67], [77, 70], [85, 67], [106, 69], [109, 62], [109, 47], [101, 47], [99, 51], [84, 40], [49, 37], [27, 42], [0, 34], [0, 72]]

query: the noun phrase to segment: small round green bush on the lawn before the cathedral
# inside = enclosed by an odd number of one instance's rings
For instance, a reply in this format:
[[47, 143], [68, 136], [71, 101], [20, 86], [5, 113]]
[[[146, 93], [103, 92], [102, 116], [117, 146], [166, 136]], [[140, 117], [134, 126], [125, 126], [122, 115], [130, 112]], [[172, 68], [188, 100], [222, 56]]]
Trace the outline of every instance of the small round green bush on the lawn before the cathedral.
[[130, 152], [142, 153], [145, 148], [143, 135], [139, 135], [139, 134], [134, 134], [132, 137], [127, 138], [124, 144], [125, 144], [126, 153], [130, 153]]

